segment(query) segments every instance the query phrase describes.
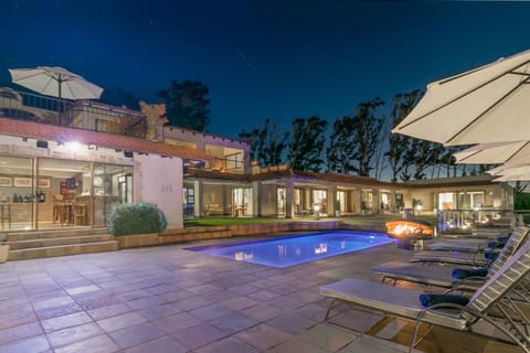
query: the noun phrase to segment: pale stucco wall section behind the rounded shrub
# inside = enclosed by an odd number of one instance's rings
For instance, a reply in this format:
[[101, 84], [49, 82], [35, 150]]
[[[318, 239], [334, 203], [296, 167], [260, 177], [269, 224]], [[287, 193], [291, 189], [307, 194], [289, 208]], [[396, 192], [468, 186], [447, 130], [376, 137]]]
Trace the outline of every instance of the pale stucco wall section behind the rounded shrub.
[[135, 201], [152, 202], [165, 213], [168, 228], [182, 228], [182, 159], [136, 156]]

